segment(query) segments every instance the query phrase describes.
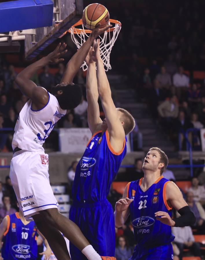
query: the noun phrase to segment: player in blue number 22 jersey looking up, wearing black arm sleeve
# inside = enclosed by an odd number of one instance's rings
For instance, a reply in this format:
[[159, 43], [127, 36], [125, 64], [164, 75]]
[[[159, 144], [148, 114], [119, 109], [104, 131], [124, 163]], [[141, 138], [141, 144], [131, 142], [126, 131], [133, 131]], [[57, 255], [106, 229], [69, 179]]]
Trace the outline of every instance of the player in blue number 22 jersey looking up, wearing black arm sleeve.
[[[123, 198], [115, 205], [115, 226], [121, 227], [130, 215], [137, 245], [130, 260], [173, 259], [171, 226], [190, 226], [195, 216], [175, 183], [162, 176], [167, 155], [159, 148], [149, 149], [144, 178], [128, 183]], [[172, 208], [181, 215], [171, 219]]]

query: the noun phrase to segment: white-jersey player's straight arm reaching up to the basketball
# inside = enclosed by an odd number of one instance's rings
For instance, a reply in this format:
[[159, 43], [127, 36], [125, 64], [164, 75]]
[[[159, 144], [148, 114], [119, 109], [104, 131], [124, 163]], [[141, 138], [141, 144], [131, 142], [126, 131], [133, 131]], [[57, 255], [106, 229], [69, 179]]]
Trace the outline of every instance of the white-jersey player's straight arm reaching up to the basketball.
[[95, 38], [97, 38], [100, 34], [102, 34], [104, 31], [109, 29], [112, 25], [107, 25], [101, 29], [99, 29], [100, 24], [97, 28], [95, 28], [90, 37], [86, 40], [86, 42], [82, 45], [82, 47], [73, 55], [73, 57], [69, 60], [68, 64], [66, 65], [65, 73], [60, 81], [62, 82], [73, 82], [73, 78], [77, 74], [78, 70], [80, 69], [81, 65], [83, 64], [88, 51], [91, 48], [91, 45], [93, 44], [93, 41]]

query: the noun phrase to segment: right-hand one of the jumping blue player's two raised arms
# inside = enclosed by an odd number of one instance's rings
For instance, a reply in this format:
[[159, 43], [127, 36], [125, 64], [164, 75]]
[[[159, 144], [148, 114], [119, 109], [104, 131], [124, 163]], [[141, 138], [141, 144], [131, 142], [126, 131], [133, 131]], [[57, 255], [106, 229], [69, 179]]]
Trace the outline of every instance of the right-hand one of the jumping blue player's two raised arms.
[[99, 44], [100, 41], [98, 39], [96, 42], [94, 42], [94, 51], [92, 51], [92, 58], [97, 65], [97, 88], [103, 111], [106, 116], [106, 123], [108, 125], [108, 131], [110, 135], [110, 144], [112, 148], [118, 152], [123, 147], [125, 131], [112, 100], [110, 85], [104, 70], [103, 61], [100, 57]]

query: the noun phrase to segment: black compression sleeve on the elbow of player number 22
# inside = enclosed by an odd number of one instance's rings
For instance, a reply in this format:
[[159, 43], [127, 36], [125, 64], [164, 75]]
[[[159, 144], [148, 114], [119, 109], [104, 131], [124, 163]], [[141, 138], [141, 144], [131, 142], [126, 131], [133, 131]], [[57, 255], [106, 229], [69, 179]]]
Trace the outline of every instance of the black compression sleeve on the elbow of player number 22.
[[173, 221], [175, 222], [174, 226], [183, 227], [194, 225], [196, 218], [189, 206], [185, 206], [179, 209], [178, 212], [181, 216], [179, 218], [173, 219]]

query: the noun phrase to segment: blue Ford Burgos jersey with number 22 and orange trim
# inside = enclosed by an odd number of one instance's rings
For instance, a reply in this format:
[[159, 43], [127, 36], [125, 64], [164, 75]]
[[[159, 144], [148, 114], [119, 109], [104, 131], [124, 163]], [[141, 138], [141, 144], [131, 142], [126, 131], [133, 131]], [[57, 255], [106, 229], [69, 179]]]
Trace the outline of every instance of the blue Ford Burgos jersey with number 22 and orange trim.
[[167, 204], [165, 195], [169, 180], [161, 176], [148, 190], [143, 192], [140, 187], [142, 179], [128, 183], [127, 195], [128, 198], [133, 199], [129, 210], [137, 242], [130, 259], [143, 259], [149, 250], [152, 252], [153, 248], [170, 244], [174, 239], [171, 234], [171, 226], [156, 220], [154, 214], [157, 211], [165, 211], [171, 217], [172, 208]]

